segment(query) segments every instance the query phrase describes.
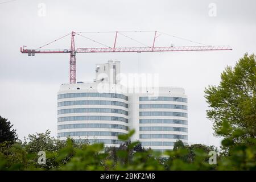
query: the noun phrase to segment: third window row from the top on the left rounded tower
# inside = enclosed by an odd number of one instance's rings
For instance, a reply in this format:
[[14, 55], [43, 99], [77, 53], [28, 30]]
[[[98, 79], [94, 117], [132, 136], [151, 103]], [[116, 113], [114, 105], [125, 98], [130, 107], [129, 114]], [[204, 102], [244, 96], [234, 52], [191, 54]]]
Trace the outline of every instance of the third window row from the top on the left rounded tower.
[[58, 114], [68, 113], [117, 113], [128, 115], [128, 111], [122, 109], [109, 109], [109, 108], [77, 108], [77, 109], [60, 109]]

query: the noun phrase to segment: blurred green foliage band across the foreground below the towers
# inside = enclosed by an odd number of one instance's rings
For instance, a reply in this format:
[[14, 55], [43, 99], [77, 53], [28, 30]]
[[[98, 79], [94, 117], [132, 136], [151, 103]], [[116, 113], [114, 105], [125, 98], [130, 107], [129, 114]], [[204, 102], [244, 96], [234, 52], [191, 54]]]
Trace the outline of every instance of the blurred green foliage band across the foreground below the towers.
[[[226, 131], [226, 127], [228, 125], [222, 125], [221, 132]], [[48, 131], [33, 135], [29, 142], [3, 142], [0, 170], [256, 170], [256, 139], [247, 138], [250, 143], [234, 143], [233, 139], [243, 134], [238, 130], [222, 141], [223, 146], [230, 148], [230, 155], [219, 156], [217, 165], [208, 163], [209, 151], [217, 152], [216, 147], [189, 146], [179, 140], [175, 144], [179, 147], [162, 154], [138, 147], [138, 142], [129, 142], [133, 133], [119, 135], [124, 142], [119, 148], [104, 148], [103, 143], [77, 144], [71, 138], [59, 144], [49, 137]], [[46, 144], [39, 147], [42, 140]], [[38, 150], [46, 150], [46, 164], [37, 163]]]

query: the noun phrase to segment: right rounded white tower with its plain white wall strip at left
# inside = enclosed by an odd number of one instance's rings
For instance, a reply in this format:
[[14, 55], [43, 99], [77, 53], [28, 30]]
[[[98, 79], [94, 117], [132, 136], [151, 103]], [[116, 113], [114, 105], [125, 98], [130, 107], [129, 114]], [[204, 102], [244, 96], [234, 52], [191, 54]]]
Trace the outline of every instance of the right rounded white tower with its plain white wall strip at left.
[[139, 130], [133, 140], [159, 151], [172, 150], [176, 140], [187, 144], [188, 108], [184, 89], [160, 87], [158, 97], [150, 95], [146, 91], [129, 97], [130, 128]]

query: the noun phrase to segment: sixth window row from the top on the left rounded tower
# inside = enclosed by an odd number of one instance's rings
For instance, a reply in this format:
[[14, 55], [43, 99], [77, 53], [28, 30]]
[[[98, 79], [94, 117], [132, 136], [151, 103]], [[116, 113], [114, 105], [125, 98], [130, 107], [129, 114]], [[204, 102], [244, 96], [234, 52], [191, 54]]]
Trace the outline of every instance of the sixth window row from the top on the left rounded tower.
[[79, 136], [112, 136], [117, 137], [118, 135], [123, 135], [125, 133], [121, 132], [111, 132], [111, 131], [74, 131], [74, 132], [63, 132], [57, 133], [57, 137], [79, 137]]

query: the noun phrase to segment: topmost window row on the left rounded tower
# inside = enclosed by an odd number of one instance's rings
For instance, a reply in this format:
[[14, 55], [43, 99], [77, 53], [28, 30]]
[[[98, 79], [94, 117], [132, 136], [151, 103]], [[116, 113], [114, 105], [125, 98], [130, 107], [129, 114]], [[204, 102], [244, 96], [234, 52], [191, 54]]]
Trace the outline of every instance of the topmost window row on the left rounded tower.
[[109, 97], [109, 98], [121, 98], [128, 101], [128, 97], [119, 93], [64, 93], [59, 94], [58, 99], [61, 98], [76, 98], [76, 97]]

